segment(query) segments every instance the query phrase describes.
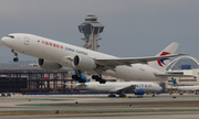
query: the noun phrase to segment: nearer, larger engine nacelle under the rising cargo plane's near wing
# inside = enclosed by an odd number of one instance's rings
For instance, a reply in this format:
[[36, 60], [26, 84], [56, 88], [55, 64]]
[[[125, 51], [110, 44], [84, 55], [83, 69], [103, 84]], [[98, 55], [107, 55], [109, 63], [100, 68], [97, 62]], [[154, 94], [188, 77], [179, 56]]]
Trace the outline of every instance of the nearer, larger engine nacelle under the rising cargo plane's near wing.
[[95, 61], [84, 55], [75, 55], [72, 65], [74, 68], [83, 71], [92, 71], [96, 68]]

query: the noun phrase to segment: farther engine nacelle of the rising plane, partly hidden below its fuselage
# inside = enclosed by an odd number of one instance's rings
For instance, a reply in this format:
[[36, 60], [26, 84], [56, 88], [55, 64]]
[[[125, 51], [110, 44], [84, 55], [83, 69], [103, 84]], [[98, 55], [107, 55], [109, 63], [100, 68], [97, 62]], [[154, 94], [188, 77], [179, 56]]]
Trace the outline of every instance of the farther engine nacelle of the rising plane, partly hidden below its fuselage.
[[41, 68], [50, 69], [50, 71], [56, 71], [56, 69], [60, 69], [62, 67], [62, 65], [60, 65], [57, 63], [50, 62], [50, 61], [42, 60], [42, 58], [38, 60], [38, 64]]

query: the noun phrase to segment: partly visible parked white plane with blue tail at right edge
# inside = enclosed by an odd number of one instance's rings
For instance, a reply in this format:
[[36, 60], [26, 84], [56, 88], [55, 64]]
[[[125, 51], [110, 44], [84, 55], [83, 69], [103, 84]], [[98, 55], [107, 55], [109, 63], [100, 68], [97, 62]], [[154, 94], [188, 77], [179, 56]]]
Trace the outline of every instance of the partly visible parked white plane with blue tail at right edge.
[[177, 89], [179, 91], [195, 91], [195, 94], [198, 94], [199, 91], [199, 86], [178, 86], [176, 79], [172, 79], [172, 83], [174, 83], [172, 89]]

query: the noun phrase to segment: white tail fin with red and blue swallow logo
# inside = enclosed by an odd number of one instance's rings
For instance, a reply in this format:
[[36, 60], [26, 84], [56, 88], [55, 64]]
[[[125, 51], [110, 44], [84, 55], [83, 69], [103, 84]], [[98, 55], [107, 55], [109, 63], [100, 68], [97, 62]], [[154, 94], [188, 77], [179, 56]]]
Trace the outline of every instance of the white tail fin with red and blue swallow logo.
[[[156, 56], [164, 56], [168, 54], [175, 54], [176, 50], [178, 48], [179, 43], [172, 42], [170, 45], [168, 45], [165, 50], [163, 50], [160, 53], [158, 53]], [[157, 60], [154, 62], [148, 62], [148, 65], [150, 67], [154, 67], [160, 72], [165, 72], [167, 68], [167, 65], [169, 64], [171, 58], [163, 58]]]

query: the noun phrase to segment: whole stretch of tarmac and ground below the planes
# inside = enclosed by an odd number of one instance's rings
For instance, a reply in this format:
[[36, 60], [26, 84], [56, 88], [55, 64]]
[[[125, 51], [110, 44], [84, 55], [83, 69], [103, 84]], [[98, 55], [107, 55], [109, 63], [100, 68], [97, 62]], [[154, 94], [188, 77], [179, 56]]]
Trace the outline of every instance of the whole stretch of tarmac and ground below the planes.
[[[199, 95], [12, 95], [0, 97], [1, 119], [198, 119]], [[169, 117], [169, 118], [168, 118]]]

